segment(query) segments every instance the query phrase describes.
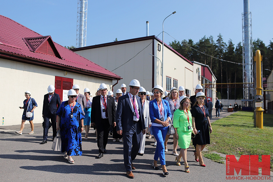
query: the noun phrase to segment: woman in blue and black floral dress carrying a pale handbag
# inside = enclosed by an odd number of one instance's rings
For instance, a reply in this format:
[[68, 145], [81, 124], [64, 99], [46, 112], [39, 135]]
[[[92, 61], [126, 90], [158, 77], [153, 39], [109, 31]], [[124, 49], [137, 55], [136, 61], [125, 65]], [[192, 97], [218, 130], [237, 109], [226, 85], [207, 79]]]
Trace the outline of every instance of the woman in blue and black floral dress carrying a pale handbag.
[[[60, 130], [62, 152], [69, 163], [74, 163], [71, 156], [82, 155], [83, 111], [81, 105], [76, 102], [75, 90], [68, 91], [68, 101], [62, 102], [57, 111], [57, 130]], [[79, 123], [81, 122], [81, 124]]]

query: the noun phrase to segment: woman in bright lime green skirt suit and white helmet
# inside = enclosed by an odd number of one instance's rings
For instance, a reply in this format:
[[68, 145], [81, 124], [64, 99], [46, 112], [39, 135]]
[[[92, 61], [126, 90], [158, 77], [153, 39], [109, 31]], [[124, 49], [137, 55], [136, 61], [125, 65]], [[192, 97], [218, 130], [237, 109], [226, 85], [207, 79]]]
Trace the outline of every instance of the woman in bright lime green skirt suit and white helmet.
[[179, 99], [180, 107], [174, 112], [174, 137], [178, 140], [178, 145], [181, 148], [179, 155], [175, 158], [177, 165], [180, 166], [181, 157], [184, 160], [185, 172], [189, 173], [189, 165], [187, 162], [187, 148], [190, 146], [191, 132], [193, 130], [190, 113], [190, 98], [181, 96]]

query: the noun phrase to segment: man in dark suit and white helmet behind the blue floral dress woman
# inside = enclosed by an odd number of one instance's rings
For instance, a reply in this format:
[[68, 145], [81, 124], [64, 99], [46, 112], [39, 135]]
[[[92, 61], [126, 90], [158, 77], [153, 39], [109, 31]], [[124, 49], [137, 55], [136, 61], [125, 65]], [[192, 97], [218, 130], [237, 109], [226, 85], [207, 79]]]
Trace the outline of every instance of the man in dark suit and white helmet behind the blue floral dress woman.
[[44, 122], [43, 122], [44, 133], [43, 133], [43, 141], [41, 142], [41, 144], [47, 143], [49, 120], [51, 120], [51, 123], [52, 123], [53, 140], [56, 137], [56, 133], [57, 133], [56, 112], [61, 105], [60, 96], [54, 93], [55, 87], [53, 85], [49, 85], [49, 87], [47, 88], [47, 91], [48, 91], [48, 94], [45, 94], [44, 102], [43, 102], [42, 116], [44, 118]]

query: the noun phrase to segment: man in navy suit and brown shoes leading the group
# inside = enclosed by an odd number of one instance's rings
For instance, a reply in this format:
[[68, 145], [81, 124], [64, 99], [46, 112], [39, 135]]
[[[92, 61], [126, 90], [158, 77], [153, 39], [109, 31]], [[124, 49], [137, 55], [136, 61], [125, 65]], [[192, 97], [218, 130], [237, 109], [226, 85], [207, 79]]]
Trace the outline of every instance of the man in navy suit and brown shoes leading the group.
[[[137, 93], [140, 89], [138, 80], [130, 82], [130, 92], [119, 98], [116, 112], [116, 130], [123, 136], [123, 158], [126, 174], [129, 178], [134, 178], [132, 161], [140, 148], [141, 135], [146, 133], [144, 116], [140, 97]], [[133, 146], [132, 146], [133, 145]]]

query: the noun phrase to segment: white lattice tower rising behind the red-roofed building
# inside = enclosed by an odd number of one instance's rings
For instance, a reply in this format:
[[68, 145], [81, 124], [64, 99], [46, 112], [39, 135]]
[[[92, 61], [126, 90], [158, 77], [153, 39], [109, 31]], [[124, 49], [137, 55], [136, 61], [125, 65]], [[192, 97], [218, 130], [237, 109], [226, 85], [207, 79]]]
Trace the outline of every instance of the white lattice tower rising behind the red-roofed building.
[[87, 0], [78, 0], [76, 47], [86, 46]]

